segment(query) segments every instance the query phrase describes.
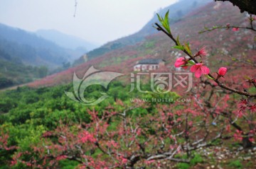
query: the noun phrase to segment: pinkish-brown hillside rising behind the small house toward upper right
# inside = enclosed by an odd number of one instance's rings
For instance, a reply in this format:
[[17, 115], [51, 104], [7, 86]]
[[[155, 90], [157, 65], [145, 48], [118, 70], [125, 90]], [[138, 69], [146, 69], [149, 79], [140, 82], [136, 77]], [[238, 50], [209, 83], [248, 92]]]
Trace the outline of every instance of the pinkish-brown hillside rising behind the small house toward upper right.
[[[231, 21], [232, 23], [230, 23]], [[233, 7], [230, 3], [213, 2], [189, 13], [181, 21], [171, 25], [171, 31], [175, 37], [180, 35], [181, 42], [189, 41], [193, 53], [203, 45], [206, 46], [210, 54], [206, 58], [208, 61], [206, 63], [210, 66], [212, 72], [218, 71], [220, 65], [228, 65], [229, 74], [238, 72], [238, 69], [243, 69], [243, 72], [247, 72], [247, 75], [255, 76], [253, 75], [254, 71], [249, 66], [244, 69], [243, 64], [232, 61], [233, 58], [250, 59], [251, 62], [256, 61], [256, 46], [253, 45], [255, 40], [250, 30], [241, 29], [234, 32], [231, 29], [223, 29], [198, 34], [204, 26], [211, 27], [213, 25], [226, 25], [227, 23], [245, 26], [248, 24], [247, 16], [241, 14], [239, 9]], [[145, 41], [136, 45], [106, 52], [101, 57], [59, 74], [48, 76], [42, 81], [31, 83], [30, 86], [53, 86], [60, 83], [69, 83], [73, 79], [74, 71], [79, 77], [82, 77], [92, 65], [97, 69], [115, 71], [129, 76], [133, 72], [134, 64], [139, 59], [145, 58], [165, 59], [169, 69], [163, 71], [174, 71], [173, 65], [176, 57], [183, 56], [183, 53], [178, 52], [177, 49], [171, 49], [174, 43], [170, 43], [169, 37], [160, 32], [145, 38]], [[130, 79], [127, 79], [129, 82]]]

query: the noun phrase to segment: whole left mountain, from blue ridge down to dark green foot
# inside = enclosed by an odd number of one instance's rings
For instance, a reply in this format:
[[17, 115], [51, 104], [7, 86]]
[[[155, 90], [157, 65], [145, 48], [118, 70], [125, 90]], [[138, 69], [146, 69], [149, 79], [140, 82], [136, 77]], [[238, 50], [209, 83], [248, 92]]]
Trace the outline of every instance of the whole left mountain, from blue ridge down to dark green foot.
[[0, 88], [43, 78], [57, 68], [67, 69], [84, 52], [0, 23]]

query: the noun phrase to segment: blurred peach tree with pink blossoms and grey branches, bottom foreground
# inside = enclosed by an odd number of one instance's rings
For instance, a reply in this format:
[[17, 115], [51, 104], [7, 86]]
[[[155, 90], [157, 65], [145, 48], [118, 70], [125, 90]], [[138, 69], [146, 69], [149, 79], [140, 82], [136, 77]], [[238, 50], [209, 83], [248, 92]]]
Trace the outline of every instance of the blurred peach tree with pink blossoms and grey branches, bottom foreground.
[[[46, 168], [69, 159], [78, 161], [79, 168], [164, 168], [171, 161], [190, 163], [191, 151], [210, 146], [225, 129], [222, 125], [220, 132], [210, 134], [214, 127], [210, 127], [209, 116], [200, 111], [200, 106], [190, 108], [194, 102], [156, 105], [156, 112], [137, 117], [133, 117], [132, 110], [149, 105], [127, 107], [121, 100], [117, 103], [102, 115], [89, 110], [89, 124], [62, 124], [55, 131], [46, 132], [41, 142], [33, 145], [32, 152], [16, 153], [12, 164]], [[204, 119], [198, 122], [195, 117], [201, 116]]]

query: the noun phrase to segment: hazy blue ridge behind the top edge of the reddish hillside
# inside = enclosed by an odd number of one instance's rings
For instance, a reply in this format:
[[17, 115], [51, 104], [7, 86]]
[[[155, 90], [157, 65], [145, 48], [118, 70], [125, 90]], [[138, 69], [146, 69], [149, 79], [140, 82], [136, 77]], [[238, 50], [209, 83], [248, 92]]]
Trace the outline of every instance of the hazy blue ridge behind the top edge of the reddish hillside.
[[[198, 7], [203, 6], [209, 3], [210, 0], [180, 0], [176, 4], [172, 4], [171, 6], [167, 6], [166, 8], [159, 11], [159, 14], [164, 14], [164, 12], [169, 10], [169, 17], [171, 18], [170, 24], [174, 24], [179, 21], [183, 16], [187, 13], [196, 10]], [[154, 28], [152, 28], [152, 24], [154, 24], [157, 20], [156, 15], [148, 22], [142, 30], [139, 30], [138, 33], [134, 33], [133, 35], [129, 35], [127, 37], [122, 37], [118, 40], [114, 40], [113, 42], [108, 42], [107, 44], [94, 49], [87, 53], [87, 59], [93, 59], [95, 57], [100, 57], [102, 54], [106, 52], [110, 52], [115, 49], [119, 49], [121, 47], [125, 47], [127, 45], [134, 45], [137, 42], [142, 42], [145, 40], [147, 35], [151, 35], [156, 33]], [[131, 25], [132, 26], [132, 25]], [[78, 61], [75, 62], [76, 65], [85, 62], [85, 60], [81, 57]]]

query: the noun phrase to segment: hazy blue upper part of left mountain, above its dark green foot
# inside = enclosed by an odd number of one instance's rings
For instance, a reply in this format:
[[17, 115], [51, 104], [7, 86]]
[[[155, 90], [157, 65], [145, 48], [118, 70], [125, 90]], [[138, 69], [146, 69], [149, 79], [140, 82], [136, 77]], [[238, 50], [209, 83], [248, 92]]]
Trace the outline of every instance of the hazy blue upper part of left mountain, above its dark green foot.
[[0, 49], [23, 64], [54, 69], [71, 59], [65, 49], [25, 30], [0, 23]]

